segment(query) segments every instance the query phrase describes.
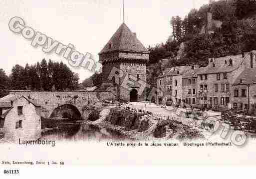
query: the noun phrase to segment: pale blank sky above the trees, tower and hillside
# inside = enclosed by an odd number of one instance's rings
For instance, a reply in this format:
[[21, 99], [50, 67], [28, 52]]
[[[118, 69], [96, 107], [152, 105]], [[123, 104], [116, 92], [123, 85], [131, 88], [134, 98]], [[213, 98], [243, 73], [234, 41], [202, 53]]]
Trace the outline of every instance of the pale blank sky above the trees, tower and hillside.
[[[136, 32], [145, 47], [165, 42], [171, 35], [172, 16], [182, 18], [192, 8], [199, 8], [209, 0], [124, 0], [125, 23]], [[123, 22], [122, 0], [0, 0], [0, 68], [7, 75], [15, 64], [25, 66], [45, 58], [62, 61], [79, 74], [82, 82], [92, 73], [82, 67], [72, 67], [55, 53], [45, 53], [33, 47], [31, 40], [8, 28], [9, 20], [21, 17], [25, 26], [44, 33], [75, 50], [98, 53]]]

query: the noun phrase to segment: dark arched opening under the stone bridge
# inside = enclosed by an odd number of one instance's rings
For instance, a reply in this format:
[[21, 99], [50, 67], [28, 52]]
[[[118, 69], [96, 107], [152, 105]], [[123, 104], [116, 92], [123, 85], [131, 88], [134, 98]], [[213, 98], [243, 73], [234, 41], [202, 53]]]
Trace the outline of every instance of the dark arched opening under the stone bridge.
[[72, 121], [82, 120], [82, 114], [72, 104], [62, 104], [56, 107], [50, 114], [50, 118], [68, 118]]

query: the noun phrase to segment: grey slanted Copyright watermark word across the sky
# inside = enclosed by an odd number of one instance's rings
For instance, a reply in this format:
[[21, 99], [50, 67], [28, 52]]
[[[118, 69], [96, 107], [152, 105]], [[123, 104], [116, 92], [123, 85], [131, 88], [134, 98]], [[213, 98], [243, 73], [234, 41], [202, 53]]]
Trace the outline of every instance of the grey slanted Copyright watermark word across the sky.
[[12, 17], [9, 20], [9, 29], [14, 33], [21, 33], [25, 39], [31, 40], [33, 47], [42, 47], [45, 53], [55, 52], [57, 55], [62, 55], [68, 63], [73, 67], [83, 67], [91, 72], [100, 73], [102, 65], [96, 62], [90, 53], [80, 53], [74, 50], [74, 45], [53, 40], [51, 37], [35, 31], [29, 26], [25, 26], [25, 22], [21, 17]]

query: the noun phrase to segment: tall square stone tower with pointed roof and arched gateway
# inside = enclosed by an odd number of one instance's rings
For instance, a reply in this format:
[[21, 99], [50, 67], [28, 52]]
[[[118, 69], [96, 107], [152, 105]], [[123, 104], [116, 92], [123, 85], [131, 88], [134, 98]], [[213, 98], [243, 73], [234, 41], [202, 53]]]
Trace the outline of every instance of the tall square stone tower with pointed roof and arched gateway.
[[[144, 101], [149, 52], [125, 23], [122, 23], [99, 52], [103, 83], [100, 90], [112, 91], [119, 99]], [[120, 72], [117, 72], [119, 69]], [[116, 76], [113, 76], [116, 71]], [[112, 72], [112, 73], [111, 73]]]

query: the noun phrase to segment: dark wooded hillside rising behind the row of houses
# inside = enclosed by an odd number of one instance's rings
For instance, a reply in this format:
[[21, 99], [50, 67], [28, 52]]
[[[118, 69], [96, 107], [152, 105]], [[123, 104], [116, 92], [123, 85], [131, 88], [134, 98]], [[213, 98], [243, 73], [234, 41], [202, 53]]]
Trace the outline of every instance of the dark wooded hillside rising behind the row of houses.
[[[212, 13], [214, 23], [221, 23], [213, 33], [202, 33], [207, 22], [207, 12]], [[181, 19], [172, 17], [170, 22], [173, 33], [166, 43], [149, 46], [148, 82], [154, 85], [155, 74], [160, 74], [162, 59], [166, 67], [187, 64], [205, 66], [208, 57], [221, 57], [239, 54], [256, 49], [256, 1], [219, 0], [192, 9]], [[181, 51], [181, 44], [184, 49]], [[157, 66], [154, 64], [158, 64]]]

